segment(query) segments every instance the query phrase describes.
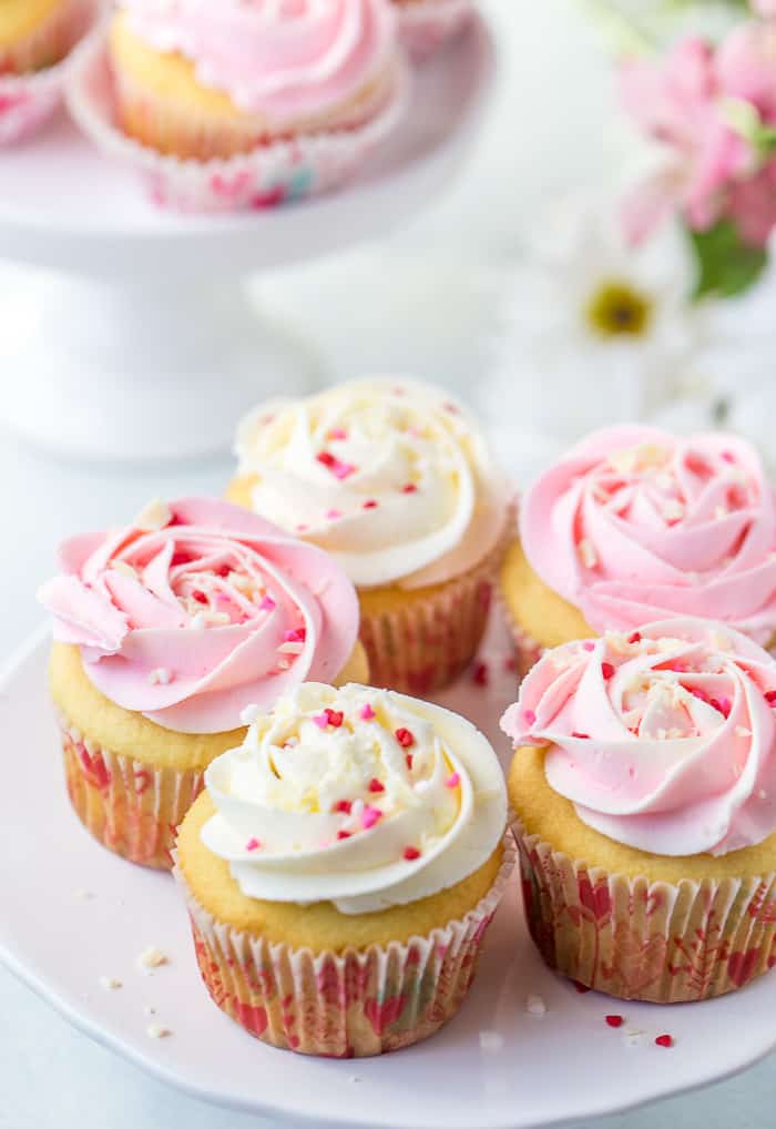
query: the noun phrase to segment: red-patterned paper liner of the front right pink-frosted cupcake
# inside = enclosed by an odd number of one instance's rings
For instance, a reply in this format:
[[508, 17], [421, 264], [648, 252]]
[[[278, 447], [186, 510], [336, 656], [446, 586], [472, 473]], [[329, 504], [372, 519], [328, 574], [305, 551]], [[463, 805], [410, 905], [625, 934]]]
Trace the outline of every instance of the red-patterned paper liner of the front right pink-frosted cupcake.
[[588, 867], [513, 825], [526, 917], [545, 963], [620, 999], [678, 1004], [776, 965], [776, 874], [678, 884]]

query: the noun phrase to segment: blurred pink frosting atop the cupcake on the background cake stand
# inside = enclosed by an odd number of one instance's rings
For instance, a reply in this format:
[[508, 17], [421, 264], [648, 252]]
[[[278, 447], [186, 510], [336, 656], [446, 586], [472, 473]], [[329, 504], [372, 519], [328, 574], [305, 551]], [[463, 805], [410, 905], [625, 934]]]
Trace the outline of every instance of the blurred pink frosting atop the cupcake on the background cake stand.
[[274, 122], [325, 113], [395, 47], [387, 0], [122, 0], [130, 27], [189, 59], [205, 86]]

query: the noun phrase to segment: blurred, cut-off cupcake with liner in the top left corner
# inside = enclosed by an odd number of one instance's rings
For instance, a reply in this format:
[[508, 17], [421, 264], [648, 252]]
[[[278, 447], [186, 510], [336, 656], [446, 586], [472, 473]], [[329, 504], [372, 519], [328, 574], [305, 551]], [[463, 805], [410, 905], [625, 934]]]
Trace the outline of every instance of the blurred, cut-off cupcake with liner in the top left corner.
[[27, 138], [56, 110], [68, 56], [100, 2], [0, 2], [0, 145]]

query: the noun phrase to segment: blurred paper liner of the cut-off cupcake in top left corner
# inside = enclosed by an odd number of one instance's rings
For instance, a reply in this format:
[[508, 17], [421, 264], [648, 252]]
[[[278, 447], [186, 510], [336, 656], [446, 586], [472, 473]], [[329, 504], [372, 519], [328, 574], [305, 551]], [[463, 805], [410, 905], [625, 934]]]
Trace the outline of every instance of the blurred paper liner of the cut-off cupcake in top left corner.
[[[0, 146], [23, 141], [52, 116], [62, 100], [68, 75], [74, 64], [73, 44], [88, 32], [100, 10], [99, 0], [71, 0], [55, 19], [29, 36], [24, 50], [14, 53], [18, 73], [8, 53], [0, 52]], [[60, 62], [41, 69], [41, 59]]]

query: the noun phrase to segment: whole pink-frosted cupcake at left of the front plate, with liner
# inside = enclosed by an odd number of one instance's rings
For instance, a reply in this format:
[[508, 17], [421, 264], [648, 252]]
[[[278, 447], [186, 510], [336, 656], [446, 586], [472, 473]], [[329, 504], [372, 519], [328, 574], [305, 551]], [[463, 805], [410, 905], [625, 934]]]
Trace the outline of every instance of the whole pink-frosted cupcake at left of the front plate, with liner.
[[104, 846], [169, 868], [210, 762], [307, 679], [367, 676], [352, 585], [226, 502], [150, 504], [63, 544], [41, 589], [70, 799]]

